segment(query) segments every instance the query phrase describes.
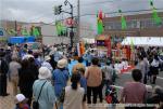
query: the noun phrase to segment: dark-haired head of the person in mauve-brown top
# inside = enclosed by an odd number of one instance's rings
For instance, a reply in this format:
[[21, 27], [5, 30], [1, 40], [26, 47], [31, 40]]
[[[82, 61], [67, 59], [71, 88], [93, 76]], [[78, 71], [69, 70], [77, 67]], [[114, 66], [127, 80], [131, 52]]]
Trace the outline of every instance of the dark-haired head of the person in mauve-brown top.
[[140, 82], [141, 79], [142, 79], [141, 70], [139, 70], [139, 69], [134, 69], [134, 70], [131, 71], [131, 77], [133, 77], [134, 81]]

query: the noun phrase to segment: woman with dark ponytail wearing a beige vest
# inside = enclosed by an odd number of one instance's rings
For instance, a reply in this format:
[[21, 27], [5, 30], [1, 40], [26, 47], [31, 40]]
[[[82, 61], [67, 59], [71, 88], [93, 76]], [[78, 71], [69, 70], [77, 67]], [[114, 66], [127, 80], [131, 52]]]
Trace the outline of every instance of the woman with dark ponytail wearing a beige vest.
[[83, 109], [85, 90], [80, 87], [80, 74], [73, 73], [71, 86], [65, 87], [63, 109]]

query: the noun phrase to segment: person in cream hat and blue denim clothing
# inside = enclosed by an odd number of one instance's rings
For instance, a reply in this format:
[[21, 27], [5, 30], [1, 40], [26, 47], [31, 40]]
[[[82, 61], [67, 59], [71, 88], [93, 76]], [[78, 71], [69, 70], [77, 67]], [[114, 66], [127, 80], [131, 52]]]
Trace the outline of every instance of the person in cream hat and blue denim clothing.
[[61, 59], [58, 62], [58, 68], [53, 71], [54, 91], [59, 98], [61, 96], [62, 88], [66, 86], [68, 81], [68, 71], [65, 69], [67, 62]]

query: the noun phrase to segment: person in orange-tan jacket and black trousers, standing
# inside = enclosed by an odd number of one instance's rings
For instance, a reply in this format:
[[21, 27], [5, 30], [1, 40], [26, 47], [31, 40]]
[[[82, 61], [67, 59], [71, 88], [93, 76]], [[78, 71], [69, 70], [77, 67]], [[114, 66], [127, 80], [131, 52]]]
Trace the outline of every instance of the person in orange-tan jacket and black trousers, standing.
[[[102, 71], [98, 67], [99, 59], [93, 57], [91, 60], [92, 65], [86, 70], [85, 77], [87, 79], [87, 103], [91, 104], [91, 95], [93, 96], [93, 104], [97, 104], [97, 96], [99, 95], [99, 90], [101, 90], [102, 82]], [[100, 95], [102, 98], [102, 95]], [[100, 99], [102, 100], [102, 99]]]

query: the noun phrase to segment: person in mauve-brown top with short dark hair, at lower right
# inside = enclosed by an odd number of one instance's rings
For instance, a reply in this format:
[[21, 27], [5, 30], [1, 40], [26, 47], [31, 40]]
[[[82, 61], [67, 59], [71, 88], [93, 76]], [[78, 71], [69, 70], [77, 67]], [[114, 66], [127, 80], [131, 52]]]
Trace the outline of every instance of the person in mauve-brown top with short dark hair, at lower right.
[[141, 83], [142, 73], [139, 69], [134, 69], [131, 77], [134, 81], [125, 84], [121, 95], [121, 103], [142, 104], [147, 94], [146, 85]]

